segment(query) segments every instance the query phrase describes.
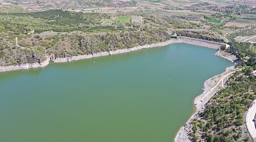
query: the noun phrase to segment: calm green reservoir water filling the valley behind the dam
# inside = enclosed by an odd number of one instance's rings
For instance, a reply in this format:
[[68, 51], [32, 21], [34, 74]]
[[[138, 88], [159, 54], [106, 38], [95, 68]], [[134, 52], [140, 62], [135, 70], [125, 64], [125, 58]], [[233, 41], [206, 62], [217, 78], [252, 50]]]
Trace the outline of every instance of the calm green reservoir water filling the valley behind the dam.
[[[232, 62], [183, 43], [0, 73], [1, 142], [173, 142]], [[169, 79], [169, 80], [168, 80]]]

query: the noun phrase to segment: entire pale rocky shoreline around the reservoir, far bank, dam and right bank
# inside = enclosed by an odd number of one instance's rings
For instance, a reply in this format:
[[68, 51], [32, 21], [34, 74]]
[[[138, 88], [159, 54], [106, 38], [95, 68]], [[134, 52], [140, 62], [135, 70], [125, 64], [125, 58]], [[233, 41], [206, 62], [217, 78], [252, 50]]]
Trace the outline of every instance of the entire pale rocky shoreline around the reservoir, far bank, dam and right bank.
[[[119, 54], [119, 53], [132, 52], [135, 50], [152, 48], [152, 47], [161, 47], [161, 46], [169, 45], [172, 43], [187, 43], [187, 44], [198, 45], [198, 46], [203, 46], [203, 47], [212, 48], [212, 49], [218, 49], [218, 48], [220, 48], [220, 46], [225, 45], [223, 43], [211, 42], [211, 41], [207, 41], [207, 40], [194, 39], [194, 38], [188, 38], [188, 37], [180, 37], [178, 39], [171, 39], [166, 42], [159, 42], [159, 43], [154, 43], [154, 44], [149, 44], [149, 45], [137, 46], [137, 47], [129, 48], [129, 49], [118, 49], [115, 51], [101, 52], [101, 53], [96, 53], [93, 55], [92, 54], [79, 55], [79, 56], [73, 56], [70, 58], [69, 57], [68, 58], [56, 58], [53, 60], [53, 62], [70, 62], [70, 61], [88, 59], [88, 58], [99, 57], [99, 56], [107, 56], [107, 55], [113, 55], [113, 54]], [[217, 51], [214, 55], [221, 56], [221, 57], [226, 58], [232, 62], [234, 62], [234, 60], [236, 59], [236, 57], [234, 55], [230, 55], [228, 53], [225, 53], [224, 51]], [[43, 61], [41, 63], [23, 64], [23, 65], [16, 65], [16, 66], [14, 66], [14, 65], [0, 66], [0, 72], [29, 69], [29, 68], [36, 68], [36, 67], [44, 67], [49, 64], [49, 61], [50, 61], [50, 58], [47, 57], [47, 60]], [[191, 116], [191, 118], [186, 122], [186, 124], [183, 127], [181, 127], [181, 129], [178, 131], [178, 133], [175, 137], [175, 140], [174, 140], [175, 142], [192, 142], [190, 140], [190, 136], [189, 136], [189, 130], [191, 129], [192, 120], [194, 118], [196, 118], [198, 116], [198, 113], [204, 109], [206, 102], [208, 102], [210, 97], [212, 97], [214, 92], [216, 92], [216, 90], [218, 89], [217, 86], [215, 89], [212, 89], [213, 85], [216, 84], [216, 80], [220, 77], [229, 75], [231, 73], [231, 71], [234, 71], [234, 66], [228, 67], [224, 73], [217, 75], [218, 77], [214, 76], [204, 82], [205, 91], [203, 92], [203, 94], [199, 95], [194, 100], [194, 104], [197, 107], [196, 112]], [[215, 78], [215, 79], [213, 80], [213, 78]], [[219, 84], [217, 84], [217, 85], [219, 85]], [[210, 91], [210, 89], [212, 89], [212, 92]], [[201, 100], [203, 100], [203, 102], [201, 102]]]

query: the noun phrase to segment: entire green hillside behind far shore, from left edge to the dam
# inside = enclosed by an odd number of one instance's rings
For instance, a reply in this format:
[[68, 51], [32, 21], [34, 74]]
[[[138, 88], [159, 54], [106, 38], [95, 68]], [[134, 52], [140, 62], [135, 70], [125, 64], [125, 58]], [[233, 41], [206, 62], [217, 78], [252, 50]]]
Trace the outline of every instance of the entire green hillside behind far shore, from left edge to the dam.
[[[131, 48], [170, 39], [166, 28], [134, 23], [102, 25], [107, 14], [47, 10], [0, 13], [0, 65], [42, 62], [55, 58]], [[17, 45], [16, 45], [17, 37]]]

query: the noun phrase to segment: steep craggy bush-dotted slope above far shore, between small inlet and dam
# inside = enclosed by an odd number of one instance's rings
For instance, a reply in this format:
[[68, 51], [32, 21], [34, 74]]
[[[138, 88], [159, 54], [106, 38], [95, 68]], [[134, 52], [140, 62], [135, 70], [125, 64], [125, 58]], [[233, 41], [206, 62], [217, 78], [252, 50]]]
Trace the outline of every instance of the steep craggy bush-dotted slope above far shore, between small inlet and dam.
[[[65, 45], [58, 44], [53, 39], [67, 41]], [[117, 49], [132, 48], [137, 45], [152, 44], [170, 39], [169, 34], [161, 29], [148, 31], [123, 32], [119, 34], [92, 34], [86, 35], [60, 35], [59, 38], [47, 37], [47, 41], [37, 42], [37, 45], [46, 47], [49, 54], [57, 53], [58, 58], [71, 57], [75, 55], [95, 54]], [[68, 50], [68, 49], [69, 50]]]

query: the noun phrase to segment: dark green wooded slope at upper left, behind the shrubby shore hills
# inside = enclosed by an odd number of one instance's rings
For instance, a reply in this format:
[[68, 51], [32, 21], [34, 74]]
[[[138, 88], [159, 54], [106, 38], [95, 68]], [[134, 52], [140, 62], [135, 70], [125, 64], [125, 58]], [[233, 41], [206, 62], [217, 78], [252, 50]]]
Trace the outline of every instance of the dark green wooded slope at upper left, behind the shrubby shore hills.
[[[33, 31], [41, 33], [45, 31], [69, 32], [83, 31], [95, 24], [99, 24], [105, 15], [99, 13], [69, 12], [63, 10], [47, 10], [30, 13], [1, 13], [0, 25], [4, 31], [26, 33]], [[9, 20], [6, 20], [9, 18]], [[5, 19], [5, 20], [4, 20]]]

